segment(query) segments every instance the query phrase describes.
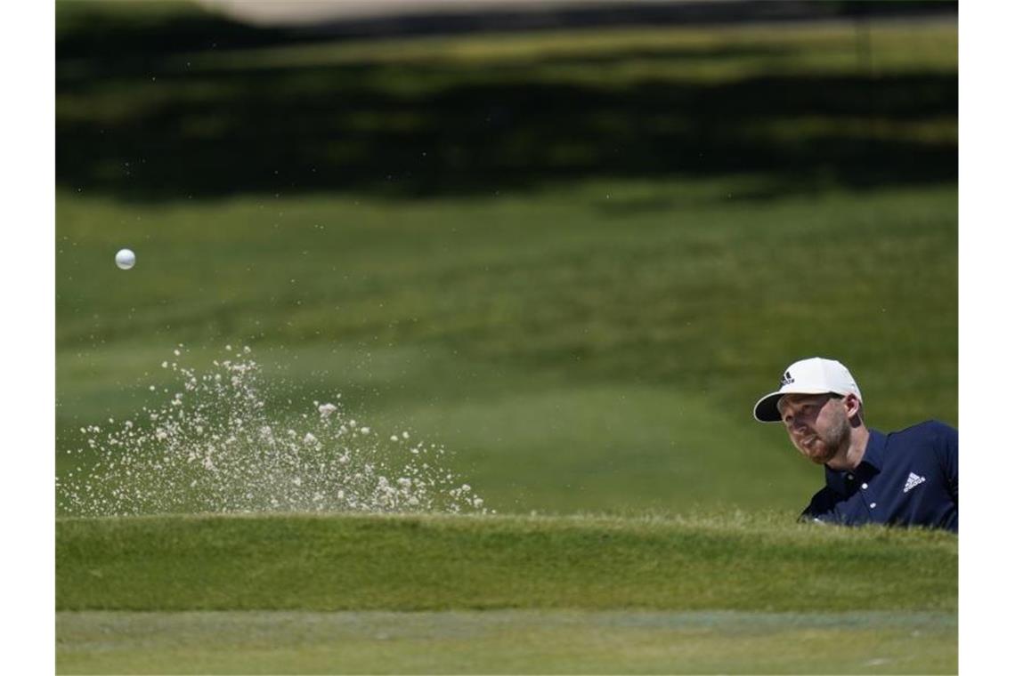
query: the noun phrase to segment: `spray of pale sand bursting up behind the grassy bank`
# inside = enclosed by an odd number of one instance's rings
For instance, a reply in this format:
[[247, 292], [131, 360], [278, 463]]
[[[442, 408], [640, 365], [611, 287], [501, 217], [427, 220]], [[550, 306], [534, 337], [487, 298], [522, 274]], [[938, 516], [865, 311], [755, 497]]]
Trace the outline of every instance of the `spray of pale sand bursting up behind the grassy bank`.
[[150, 428], [127, 421], [105, 436], [97, 425], [81, 428], [93, 462], [57, 482], [62, 513], [487, 512], [454, 472], [421, 462], [423, 443], [401, 443], [408, 432], [370, 435], [330, 402], [315, 402], [318, 416], [302, 416], [299, 432], [287, 427], [291, 416], [266, 404], [252, 358], [216, 361], [204, 374], [172, 366], [187, 397], [175, 392], [160, 408], [143, 408]]

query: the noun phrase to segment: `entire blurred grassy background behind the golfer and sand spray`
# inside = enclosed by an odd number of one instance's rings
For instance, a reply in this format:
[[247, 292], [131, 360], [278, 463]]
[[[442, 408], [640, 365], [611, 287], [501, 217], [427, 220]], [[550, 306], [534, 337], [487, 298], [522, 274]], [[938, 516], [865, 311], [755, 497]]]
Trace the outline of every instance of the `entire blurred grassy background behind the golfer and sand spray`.
[[953, 2], [60, 0], [58, 474], [246, 345], [499, 512], [793, 518], [791, 362], [957, 425], [957, 48]]

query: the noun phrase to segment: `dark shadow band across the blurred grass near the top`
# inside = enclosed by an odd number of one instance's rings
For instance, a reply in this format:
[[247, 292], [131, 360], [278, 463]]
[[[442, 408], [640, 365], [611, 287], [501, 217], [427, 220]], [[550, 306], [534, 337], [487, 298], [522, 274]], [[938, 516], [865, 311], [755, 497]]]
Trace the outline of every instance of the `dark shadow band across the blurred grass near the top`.
[[[236, 68], [212, 61], [191, 69], [163, 58], [184, 48], [214, 55], [215, 41], [259, 47], [281, 40], [277, 31], [204, 20], [168, 21], [147, 43], [130, 30], [58, 42], [59, 185], [133, 200], [325, 191], [421, 198], [597, 177], [758, 172], [772, 176], [781, 194], [957, 177], [949, 135], [891, 133], [957, 120], [954, 73], [724, 83], [645, 76], [600, 84], [588, 77], [611, 62], [780, 54], [763, 46], [511, 65]], [[117, 57], [124, 53], [132, 56]], [[585, 75], [563, 82], [547, 76], [559, 68]]]

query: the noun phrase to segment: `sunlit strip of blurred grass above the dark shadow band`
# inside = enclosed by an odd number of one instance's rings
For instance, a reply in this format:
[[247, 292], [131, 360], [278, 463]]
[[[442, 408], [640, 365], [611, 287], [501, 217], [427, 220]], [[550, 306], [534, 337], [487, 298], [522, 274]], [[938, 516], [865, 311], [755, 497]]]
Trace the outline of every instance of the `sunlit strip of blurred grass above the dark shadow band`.
[[[873, 63], [881, 74], [948, 73], [958, 47], [954, 25], [873, 23]], [[276, 47], [251, 55], [244, 51], [177, 57], [200, 71], [227, 67], [240, 71], [265, 67], [314, 68], [348, 64], [387, 66], [386, 87], [400, 92], [444, 88], [447, 75], [434, 71], [423, 80], [399, 77], [406, 63], [456, 67], [477, 82], [594, 84], [624, 89], [645, 80], [733, 82], [751, 76], [855, 74], [858, 35], [851, 25], [759, 28], [733, 25], [679, 28], [594, 28], [521, 35], [430, 36], [414, 40], [353, 41], [346, 45]], [[667, 58], [669, 57], [669, 58]], [[447, 73], [447, 71], [446, 71]]]

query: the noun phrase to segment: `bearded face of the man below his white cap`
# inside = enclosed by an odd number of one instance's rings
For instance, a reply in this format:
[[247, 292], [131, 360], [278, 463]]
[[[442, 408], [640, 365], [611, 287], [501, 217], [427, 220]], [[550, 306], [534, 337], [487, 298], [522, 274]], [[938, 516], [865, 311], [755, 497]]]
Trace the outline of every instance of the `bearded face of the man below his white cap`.
[[802, 455], [825, 464], [849, 446], [850, 419], [842, 399], [828, 394], [787, 394], [779, 411], [790, 441]]

